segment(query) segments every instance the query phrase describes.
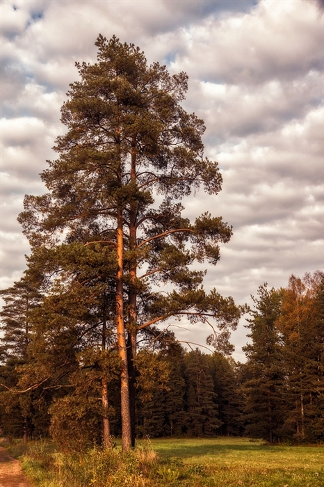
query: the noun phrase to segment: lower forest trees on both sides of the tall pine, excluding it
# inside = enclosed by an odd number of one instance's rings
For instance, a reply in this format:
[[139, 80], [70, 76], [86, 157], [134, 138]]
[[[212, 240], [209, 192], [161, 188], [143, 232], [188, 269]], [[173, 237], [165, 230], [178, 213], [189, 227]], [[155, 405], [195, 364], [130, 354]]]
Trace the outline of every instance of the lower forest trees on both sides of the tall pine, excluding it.
[[[58, 296], [46, 296], [43, 308], [24, 280], [3, 298], [3, 431], [50, 433], [60, 447], [79, 448], [102, 442], [106, 418], [111, 433], [120, 436], [120, 359], [111, 330], [97, 324], [95, 313], [88, 316], [96, 303], [88, 294], [79, 303], [70, 293], [60, 296], [59, 309]], [[145, 330], [136, 354], [136, 436], [323, 442], [323, 298], [319, 271], [291, 276], [285, 289], [261, 285], [248, 318], [245, 363], [218, 351], [186, 350], [169, 330]], [[83, 313], [88, 328], [79, 326]], [[38, 320], [40, 330], [33, 329]]]

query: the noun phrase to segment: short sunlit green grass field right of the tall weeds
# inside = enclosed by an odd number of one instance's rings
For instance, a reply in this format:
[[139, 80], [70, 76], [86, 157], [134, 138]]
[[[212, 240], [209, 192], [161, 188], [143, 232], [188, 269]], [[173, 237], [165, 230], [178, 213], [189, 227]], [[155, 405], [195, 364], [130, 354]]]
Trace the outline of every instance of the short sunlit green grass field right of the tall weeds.
[[163, 439], [152, 446], [160, 458], [202, 465], [209, 478], [197, 486], [324, 487], [324, 447], [269, 446], [248, 438]]

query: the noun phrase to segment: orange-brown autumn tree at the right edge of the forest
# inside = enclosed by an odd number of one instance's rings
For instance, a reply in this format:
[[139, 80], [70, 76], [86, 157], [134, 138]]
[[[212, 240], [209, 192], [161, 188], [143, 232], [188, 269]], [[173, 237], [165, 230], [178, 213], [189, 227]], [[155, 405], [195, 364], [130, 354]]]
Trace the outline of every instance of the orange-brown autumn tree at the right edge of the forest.
[[286, 376], [284, 434], [299, 441], [323, 440], [323, 273], [291, 276], [277, 328]]

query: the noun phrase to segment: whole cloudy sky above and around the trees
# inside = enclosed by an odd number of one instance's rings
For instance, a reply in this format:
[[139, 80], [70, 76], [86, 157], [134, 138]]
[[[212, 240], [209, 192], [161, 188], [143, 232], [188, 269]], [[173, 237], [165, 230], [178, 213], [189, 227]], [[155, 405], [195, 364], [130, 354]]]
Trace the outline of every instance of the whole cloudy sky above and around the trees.
[[[222, 192], [186, 200], [233, 225], [206, 287], [250, 303], [264, 282], [323, 269], [324, 1], [2, 0], [1, 287], [19, 280], [29, 246], [16, 221], [40, 194], [60, 106], [93, 62], [97, 35], [133, 42], [149, 63], [189, 75], [188, 111], [206, 123], [205, 153]], [[203, 343], [210, 330], [180, 330]], [[243, 321], [233, 335], [244, 360]]]

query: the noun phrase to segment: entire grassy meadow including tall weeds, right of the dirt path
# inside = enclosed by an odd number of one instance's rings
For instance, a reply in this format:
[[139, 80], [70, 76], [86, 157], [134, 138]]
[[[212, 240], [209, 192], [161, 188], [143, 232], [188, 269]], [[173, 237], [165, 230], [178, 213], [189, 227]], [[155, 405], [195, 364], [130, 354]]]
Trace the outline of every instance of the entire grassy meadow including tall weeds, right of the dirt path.
[[41, 440], [20, 460], [35, 487], [324, 486], [323, 446], [270, 446], [248, 438], [143, 440], [127, 454], [118, 441], [111, 452], [62, 454]]

